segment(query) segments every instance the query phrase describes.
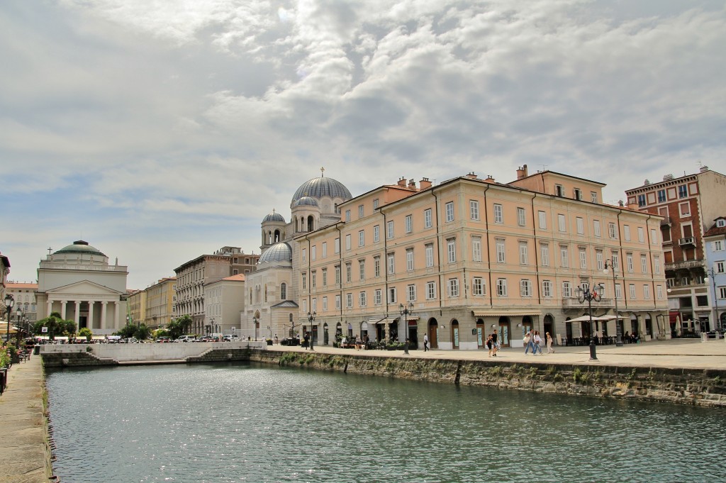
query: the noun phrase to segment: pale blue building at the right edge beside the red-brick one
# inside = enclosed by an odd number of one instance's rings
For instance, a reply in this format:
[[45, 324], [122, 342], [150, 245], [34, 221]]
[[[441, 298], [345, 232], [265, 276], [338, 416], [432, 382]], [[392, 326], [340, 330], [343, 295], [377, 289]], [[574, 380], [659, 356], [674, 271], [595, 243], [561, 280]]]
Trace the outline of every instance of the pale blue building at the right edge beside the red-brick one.
[[706, 283], [711, 290], [713, 329], [726, 329], [726, 216], [714, 219], [703, 234], [706, 245]]

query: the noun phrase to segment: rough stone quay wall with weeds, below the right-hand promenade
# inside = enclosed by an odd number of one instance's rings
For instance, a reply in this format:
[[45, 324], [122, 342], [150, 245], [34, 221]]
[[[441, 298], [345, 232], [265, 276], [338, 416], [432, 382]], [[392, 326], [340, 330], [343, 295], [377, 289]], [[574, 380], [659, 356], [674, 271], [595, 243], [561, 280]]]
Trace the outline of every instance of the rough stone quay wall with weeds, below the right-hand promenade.
[[726, 370], [252, 351], [250, 360], [494, 389], [726, 407]]

